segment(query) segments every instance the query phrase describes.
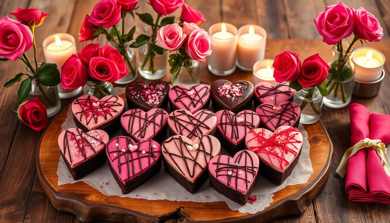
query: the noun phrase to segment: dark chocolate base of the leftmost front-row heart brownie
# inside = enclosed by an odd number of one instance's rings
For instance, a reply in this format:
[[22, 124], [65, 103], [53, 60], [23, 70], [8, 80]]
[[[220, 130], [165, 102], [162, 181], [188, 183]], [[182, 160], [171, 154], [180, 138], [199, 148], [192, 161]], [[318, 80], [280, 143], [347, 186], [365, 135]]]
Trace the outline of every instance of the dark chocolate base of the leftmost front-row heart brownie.
[[65, 161], [67, 168], [69, 169], [69, 172], [73, 177], [73, 180], [80, 180], [81, 178], [85, 177], [86, 175], [103, 165], [107, 160], [106, 150], [103, 149], [91, 159], [88, 159], [87, 161], [78, 164], [74, 168], [71, 168], [71, 165], [69, 164], [67, 159], [65, 159], [64, 154], [61, 153], [61, 155]]

